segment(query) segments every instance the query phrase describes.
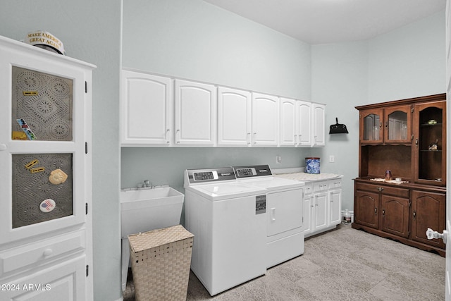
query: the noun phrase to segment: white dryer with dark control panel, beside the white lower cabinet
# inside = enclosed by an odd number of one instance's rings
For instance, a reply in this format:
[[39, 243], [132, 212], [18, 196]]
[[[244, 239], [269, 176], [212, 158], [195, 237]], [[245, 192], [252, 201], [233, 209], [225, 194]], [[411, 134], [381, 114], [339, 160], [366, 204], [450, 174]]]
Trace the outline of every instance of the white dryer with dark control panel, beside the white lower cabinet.
[[234, 166], [239, 183], [266, 190], [266, 267], [304, 254], [304, 182], [273, 177], [268, 165]]

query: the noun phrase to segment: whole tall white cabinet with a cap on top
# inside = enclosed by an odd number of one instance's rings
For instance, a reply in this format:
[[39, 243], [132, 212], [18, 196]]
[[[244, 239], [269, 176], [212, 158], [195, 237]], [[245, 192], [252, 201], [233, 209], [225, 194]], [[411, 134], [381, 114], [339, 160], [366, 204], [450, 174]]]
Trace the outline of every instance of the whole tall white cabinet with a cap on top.
[[0, 299], [92, 300], [95, 66], [0, 37]]

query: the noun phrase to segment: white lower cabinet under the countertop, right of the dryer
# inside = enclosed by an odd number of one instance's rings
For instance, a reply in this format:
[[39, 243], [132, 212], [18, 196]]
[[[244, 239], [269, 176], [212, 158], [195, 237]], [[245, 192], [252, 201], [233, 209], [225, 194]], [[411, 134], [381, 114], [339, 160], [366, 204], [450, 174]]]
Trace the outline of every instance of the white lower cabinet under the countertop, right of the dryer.
[[341, 179], [308, 182], [304, 191], [305, 237], [335, 228], [341, 222]]

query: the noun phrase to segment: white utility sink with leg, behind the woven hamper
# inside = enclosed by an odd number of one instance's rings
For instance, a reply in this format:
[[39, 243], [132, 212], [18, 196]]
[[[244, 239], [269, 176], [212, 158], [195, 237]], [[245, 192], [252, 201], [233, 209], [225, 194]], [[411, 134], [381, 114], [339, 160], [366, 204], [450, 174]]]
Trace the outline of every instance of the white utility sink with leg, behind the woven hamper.
[[122, 290], [130, 259], [128, 235], [180, 224], [184, 197], [169, 186], [121, 190]]

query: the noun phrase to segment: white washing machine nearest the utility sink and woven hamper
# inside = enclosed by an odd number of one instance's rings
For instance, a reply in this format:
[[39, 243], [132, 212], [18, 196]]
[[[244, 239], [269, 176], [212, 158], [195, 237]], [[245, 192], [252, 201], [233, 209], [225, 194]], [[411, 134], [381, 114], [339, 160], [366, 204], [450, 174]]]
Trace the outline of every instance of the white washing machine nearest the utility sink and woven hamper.
[[185, 171], [191, 269], [216, 295], [266, 274], [266, 190], [238, 183], [233, 168]]

